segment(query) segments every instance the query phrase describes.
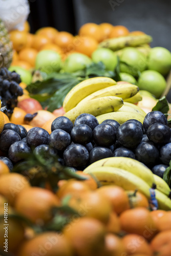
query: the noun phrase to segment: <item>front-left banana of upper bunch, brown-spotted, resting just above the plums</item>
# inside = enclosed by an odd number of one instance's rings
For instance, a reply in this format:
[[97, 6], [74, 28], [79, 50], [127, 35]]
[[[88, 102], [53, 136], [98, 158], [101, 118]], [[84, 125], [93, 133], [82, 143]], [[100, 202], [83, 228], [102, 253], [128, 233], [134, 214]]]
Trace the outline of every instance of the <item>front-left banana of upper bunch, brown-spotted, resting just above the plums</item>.
[[75, 106], [72, 110], [63, 116], [68, 117], [73, 123], [75, 119], [83, 113], [92, 114], [93, 116], [117, 111], [123, 105], [123, 99], [115, 96], [101, 97], [92, 99], [89, 102], [84, 101], [79, 106]]

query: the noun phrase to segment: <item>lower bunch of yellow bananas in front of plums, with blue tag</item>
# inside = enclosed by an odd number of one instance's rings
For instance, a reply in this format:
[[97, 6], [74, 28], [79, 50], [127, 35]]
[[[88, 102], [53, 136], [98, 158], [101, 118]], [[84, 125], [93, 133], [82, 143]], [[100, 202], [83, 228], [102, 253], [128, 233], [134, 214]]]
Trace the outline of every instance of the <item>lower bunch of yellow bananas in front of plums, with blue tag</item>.
[[[156, 182], [151, 169], [141, 162], [127, 157], [110, 157], [98, 160], [84, 169], [83, 173], [93, 175], [101, 185], [115, 184], [124, 190], [137, 189], [148, 199], [151, 196], [149, 189]], [[161, 186], [157, 185], [157, 189], [155, 189], [159, 208], [171, 210], [171, 200], [166, 195], [168, 190], [166, 186], [163, 189], [165, 194], [161, 191]]]

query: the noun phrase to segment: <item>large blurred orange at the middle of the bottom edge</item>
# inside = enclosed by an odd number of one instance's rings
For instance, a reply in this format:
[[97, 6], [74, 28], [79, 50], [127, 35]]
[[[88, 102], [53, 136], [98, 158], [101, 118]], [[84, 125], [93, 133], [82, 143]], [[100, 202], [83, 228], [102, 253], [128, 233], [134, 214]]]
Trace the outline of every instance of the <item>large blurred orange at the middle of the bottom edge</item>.
[[100, 221], [93, 218], [79, 218], [66, 225], [62, 233], [73, 245], [75, 255], [104, 255], [105, 227]]

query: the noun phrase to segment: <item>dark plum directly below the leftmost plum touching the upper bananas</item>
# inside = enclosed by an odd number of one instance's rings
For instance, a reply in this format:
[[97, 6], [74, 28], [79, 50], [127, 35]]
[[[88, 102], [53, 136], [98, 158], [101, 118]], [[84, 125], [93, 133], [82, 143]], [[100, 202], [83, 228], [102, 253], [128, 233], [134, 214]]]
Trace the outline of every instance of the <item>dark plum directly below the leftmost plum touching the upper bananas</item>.
[[71, 137], [66, 131], [56, 129], [50, 134], [49, 145], [56, 148], [56, 150], [65, 150], [70, 143]]

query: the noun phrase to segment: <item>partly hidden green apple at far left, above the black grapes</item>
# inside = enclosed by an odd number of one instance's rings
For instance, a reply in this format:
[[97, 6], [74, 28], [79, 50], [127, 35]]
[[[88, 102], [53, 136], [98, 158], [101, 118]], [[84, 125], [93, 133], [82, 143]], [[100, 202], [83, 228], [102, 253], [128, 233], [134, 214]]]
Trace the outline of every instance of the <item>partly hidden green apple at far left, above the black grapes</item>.
[[8, 70], [10, 72], [15, 71], [17, 74], [19, 74], [22, 82], [24, 82], [26, 84], [31, 83], [32, 75], [31, 75], [30, 71], [28, 71], [26, 69], [23, 69], [23, 68], [21, 68], [19, 66], [11, 66], [11, 67], [9, 67]]

